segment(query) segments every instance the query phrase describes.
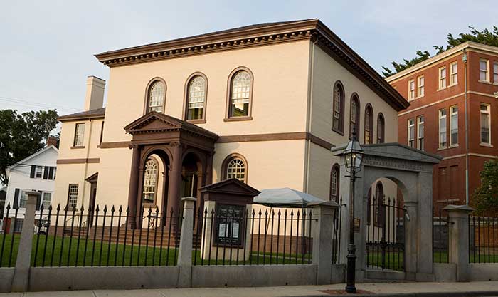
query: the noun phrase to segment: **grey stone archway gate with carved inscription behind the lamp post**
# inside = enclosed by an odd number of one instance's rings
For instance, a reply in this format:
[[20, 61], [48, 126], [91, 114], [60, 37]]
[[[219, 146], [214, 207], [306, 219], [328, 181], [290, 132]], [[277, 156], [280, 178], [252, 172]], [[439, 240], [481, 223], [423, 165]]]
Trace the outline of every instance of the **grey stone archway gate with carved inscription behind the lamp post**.
[[[348, 175], [344, 163], [344, 146], [332, 148], [334, 155], [341, 157], [341, 177]], [[404, 278], [406, 280], [433, 281], [432, 261], [432, 207], [433, 165], [441, 157], [416, 150], [399, 143], [363, 145], [365, 152], [360, 178], [355, 184], [355, 219], [359, 219], [356, 244], [356, 281], [366, 278], [366, 236], [368, 193], [371, 184], [381, 177], [391, 179], [403, 194], [405, 218]], [[349, 209], [349, 179], [341, 179], [340, 195]], [[341, 216], [341, 251], [347, 251], [349, 212], [343, 209]], [[341, 253], [341, 263], [346, 263], [346, 252]]]

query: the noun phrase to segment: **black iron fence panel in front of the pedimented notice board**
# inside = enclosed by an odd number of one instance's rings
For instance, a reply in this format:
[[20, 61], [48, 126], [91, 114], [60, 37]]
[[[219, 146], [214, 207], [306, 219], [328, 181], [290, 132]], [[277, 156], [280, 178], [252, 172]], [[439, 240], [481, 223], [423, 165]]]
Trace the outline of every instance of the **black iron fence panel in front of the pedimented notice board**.
[[311, 264], [310, 209], [218, 204], [199, 209], [194, 226], [194, 265]]

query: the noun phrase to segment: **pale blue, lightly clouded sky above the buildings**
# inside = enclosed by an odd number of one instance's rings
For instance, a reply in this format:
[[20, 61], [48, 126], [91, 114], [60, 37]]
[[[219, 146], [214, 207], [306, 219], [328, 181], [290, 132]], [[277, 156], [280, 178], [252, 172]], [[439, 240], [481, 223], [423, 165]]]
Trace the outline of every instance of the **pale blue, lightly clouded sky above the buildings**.
[[95, 53], [272, 21], [318, 18], [381, 73], [447, 33], [497, 25], [496, 0], [0, 1], [0, 109], [83, 110]]

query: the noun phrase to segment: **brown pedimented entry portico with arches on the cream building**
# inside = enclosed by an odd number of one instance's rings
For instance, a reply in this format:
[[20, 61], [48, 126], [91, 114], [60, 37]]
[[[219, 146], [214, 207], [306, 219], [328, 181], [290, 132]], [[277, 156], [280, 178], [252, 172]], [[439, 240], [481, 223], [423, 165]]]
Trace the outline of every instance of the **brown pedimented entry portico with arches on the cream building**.
[[[218, 140], [218, 135], [157, 112], [147, 113], [134, 120], [124, 130], [132, 135], [129, 147], [133, 150], [133, 155], [128, 193], [132, 217], [144, 207], [144, 172], [146, 162], [152, 155], [159, 156], [164, 168], [161, 213], [172, 211], [179, 214], [180, 197], [184, 194], [181, 189], [185, 188], [182, 187], [182, 172], [194, 172], [195, 178], [189, 179], [187, 187], [195, 189], [190, 193], [194, 197], [200, 197], [198, 193], [201, 187], [211, 184], [214, 143]], [[201, 204], [198, 201], [196, 206], [201, 207]], [[131, 224], [137, 226], [133, 219]]]

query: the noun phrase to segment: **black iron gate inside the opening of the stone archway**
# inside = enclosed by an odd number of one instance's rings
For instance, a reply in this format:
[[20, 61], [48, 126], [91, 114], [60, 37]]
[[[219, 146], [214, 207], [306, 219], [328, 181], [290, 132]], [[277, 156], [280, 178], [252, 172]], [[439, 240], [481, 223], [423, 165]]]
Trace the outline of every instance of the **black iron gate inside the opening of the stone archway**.
[[367, 205], [366, 267], [404, 271], [406, 209], [383, 197], [373, 197]]

